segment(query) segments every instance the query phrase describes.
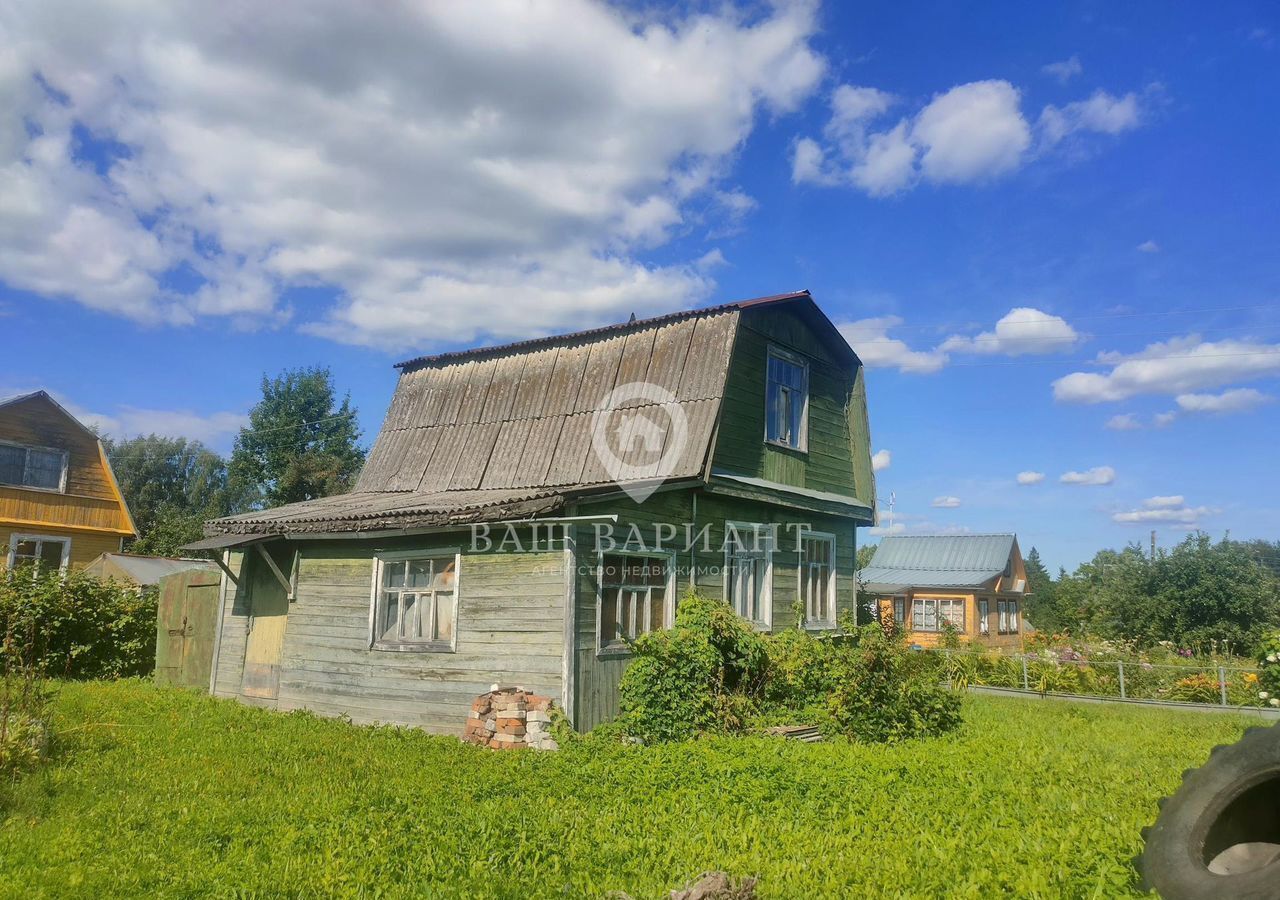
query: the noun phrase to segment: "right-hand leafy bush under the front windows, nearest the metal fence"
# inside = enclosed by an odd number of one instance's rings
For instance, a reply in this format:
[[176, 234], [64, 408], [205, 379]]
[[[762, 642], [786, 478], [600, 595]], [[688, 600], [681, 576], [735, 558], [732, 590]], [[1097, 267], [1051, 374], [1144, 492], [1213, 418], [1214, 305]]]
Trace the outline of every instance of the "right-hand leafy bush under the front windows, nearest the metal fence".
[[859, 629], [840, 684], [828, 699], [831, 728], [864, 743], [929, 737], [960, 725], [960, 695], [941, 687], [897, 639]]

